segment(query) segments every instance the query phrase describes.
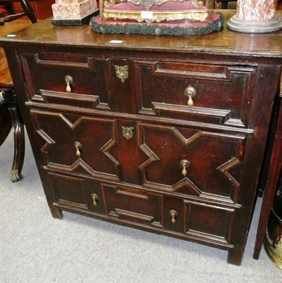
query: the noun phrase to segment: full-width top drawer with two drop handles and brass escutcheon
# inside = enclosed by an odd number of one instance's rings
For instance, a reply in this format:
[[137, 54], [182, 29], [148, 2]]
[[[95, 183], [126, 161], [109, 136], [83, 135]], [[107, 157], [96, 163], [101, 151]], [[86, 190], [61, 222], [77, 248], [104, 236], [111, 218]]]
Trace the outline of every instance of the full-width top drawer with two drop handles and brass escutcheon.
[[107, 56], [21, 54], [29, 100], [247, 127], [256, 67]]

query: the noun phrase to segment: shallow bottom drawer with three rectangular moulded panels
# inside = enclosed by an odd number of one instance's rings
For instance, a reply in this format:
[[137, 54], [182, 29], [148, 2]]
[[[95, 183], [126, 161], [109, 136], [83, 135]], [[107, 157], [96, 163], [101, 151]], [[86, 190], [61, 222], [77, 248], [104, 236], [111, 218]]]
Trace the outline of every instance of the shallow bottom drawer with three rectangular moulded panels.
[[230, 243], [233, 207], [57, 173], [49, 173], [49, 180], [61, 207], [104, 214], [108, 220], [118, 219], [129, 225], [153, 226], [160, 233], [181, 233], [181, 238]]

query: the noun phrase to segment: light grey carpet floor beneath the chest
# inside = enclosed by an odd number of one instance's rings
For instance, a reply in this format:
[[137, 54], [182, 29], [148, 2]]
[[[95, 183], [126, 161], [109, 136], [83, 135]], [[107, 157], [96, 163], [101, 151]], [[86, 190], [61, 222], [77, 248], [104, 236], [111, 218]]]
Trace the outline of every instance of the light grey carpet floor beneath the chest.
[[24, 178], [9, 181], [12, 134], [0, 147], [1, 283], [281, 283], [267, 257], [252, 258], [259, 199], [240, 267], [227, 252], [64, 212], [53, 219], [28, 137]]

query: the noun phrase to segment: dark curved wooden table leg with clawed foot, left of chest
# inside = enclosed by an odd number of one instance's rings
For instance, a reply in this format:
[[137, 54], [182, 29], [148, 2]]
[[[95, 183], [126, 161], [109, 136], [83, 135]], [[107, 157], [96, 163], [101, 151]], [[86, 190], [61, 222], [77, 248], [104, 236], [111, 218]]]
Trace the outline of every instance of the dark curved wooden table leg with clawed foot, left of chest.
[[8, 112], [10, 113], [9, 118], [11, 119], [6, 119], [6, 121], [8, 120], [10, 125], [12, 124], [14, 137], [13, 166], [11, 170], [10, 180], [11, 182], [18, 182], [21, 178], [23, 178], [20, 173], [23, 168], [23, 159], [25, 156], [24, 125], [20, 111], [18, 110], [15, 91], [13, 89], [4, 91], [3, 98], [4, 103], [6, 103], [8, 107]]

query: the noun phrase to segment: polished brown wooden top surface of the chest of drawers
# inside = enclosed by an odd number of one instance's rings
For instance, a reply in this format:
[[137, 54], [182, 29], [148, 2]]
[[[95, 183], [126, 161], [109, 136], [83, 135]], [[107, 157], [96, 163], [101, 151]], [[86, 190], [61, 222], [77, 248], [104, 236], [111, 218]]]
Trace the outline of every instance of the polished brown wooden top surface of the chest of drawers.
[[[13, 33], [14, 37], [3, 35], [0, 45], [48, 45], [102, 48], [107, 50], [172, 51], [206, 54], [234, 54], [239, 56], [282, 58], [282, 31], [267, 34], [235, 33], [226, 28], [235, 11], [221, 11], [225, 18], [223, 30], [209, 35], [189, 37], [155, 35], [102, 34], [90, 30], [89, 25], [54, 26], [51, 19], [40, 21], [28, 28]], [[276, 16], [282, 16], [277, 11]], [[114, 41], [113, 41], [114, 40]], [[119, 42], [119, 43], [117, 43]]]

